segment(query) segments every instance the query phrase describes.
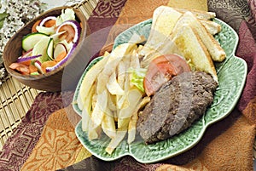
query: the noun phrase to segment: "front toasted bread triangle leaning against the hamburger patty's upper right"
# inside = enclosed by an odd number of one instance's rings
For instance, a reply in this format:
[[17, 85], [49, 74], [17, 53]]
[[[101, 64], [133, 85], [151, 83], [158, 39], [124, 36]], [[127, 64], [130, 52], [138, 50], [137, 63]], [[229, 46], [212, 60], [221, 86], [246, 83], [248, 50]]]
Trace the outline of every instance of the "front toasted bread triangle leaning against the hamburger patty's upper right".
[[172, 40], [182, 53], [180, 55], [190, 61], [195, 66], [195, 70], [209, 73], [218, 83], [218, 76], [212, 58], [194, 28], [188, 24], [174, 28]]

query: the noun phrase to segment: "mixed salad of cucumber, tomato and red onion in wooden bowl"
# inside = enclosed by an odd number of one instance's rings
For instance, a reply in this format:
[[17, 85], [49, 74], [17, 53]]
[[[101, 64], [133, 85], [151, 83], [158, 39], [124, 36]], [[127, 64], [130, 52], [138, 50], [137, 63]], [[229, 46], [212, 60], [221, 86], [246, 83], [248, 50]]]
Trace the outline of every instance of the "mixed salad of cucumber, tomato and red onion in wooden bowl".
[[64, 65], [79, 43], [81, 24], [73, 9], [37, 20], [22, 38], [22, 55], [9, 67], [23, 75], [38, 75]]

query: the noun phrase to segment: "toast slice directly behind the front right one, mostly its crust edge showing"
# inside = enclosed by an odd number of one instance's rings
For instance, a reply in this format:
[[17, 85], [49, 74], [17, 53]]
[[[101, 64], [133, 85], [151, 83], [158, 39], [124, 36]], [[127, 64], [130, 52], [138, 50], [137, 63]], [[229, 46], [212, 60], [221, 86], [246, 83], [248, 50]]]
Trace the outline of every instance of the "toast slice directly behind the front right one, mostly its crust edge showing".
[[[226, 58], [224, 49], [221, 48], [219, 43], [214, 37], [207, 31], [207, 29], [201, 25], [201, 22], [195, 18], [195, 15], [191, 12], [186, 12], [182, 17], [177, 20], [175, 27], [180, 27], [183, 24], [188, 24], [195, 29], [195, 32], [201, 38], [202, 43], [207, 47], [207, 50], [211, 54], [213, 61], [221, 62]], [[175, 28], [174, 28], [175, 29]]]

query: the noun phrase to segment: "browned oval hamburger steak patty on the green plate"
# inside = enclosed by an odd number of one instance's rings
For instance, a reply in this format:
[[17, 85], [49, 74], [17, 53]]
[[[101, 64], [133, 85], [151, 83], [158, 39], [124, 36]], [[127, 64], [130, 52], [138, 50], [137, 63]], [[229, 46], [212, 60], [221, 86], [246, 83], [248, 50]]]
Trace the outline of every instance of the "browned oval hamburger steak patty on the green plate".
[[201, 117], [218, 84], [202, 71], [183, 72], [163, 85], [139, 116], [137, 130], [146, 144], [166, 140]]

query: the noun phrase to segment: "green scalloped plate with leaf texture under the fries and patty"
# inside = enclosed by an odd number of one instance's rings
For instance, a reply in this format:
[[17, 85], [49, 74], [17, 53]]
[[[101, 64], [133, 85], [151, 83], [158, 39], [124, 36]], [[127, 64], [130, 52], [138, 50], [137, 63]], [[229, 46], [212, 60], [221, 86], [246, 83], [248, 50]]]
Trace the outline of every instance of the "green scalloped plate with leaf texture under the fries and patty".
[[[118, 148], [113, 151], [112, 155], [108, 155], [105, 151], [105, 148], [110, 141], [108, 137], [103, 136], [100, 140], [88, 140], [87, 134], [82, 131], [81, 122], [79, 122], [75, 128], [75, 133], [84, 147], [94, 156], [104, 161], [113, 161], [129, 155], [134, 157], [138, 162], [159, 162], [174, 157], [184, 151], [188, 151], [201, 140], [202, 135], [210, 124], [216, 123], [228, 116], [239, 100], [244, 87], [247, 76], [247, 64], [244, 60], [235, 56], [235, 50], [238, 43], [236, 31], [222, 20], [215, 19], [214, 21], [222, 26], [222, 31], [218, 33], [215, 38], [218, 40], [218, 43], [221, 44], [222, 48], [224, 48], [227, 58], [224, 62], [215, 64], [219, 85], [214, 94], [212, 105], [200, 120], [193, 123], [190, 128], [183, 131], [181, 134], [177, 134], [168, 140], [160, 141], [154, 145], [145, 145], [143, 140], [140, 139], [135, 140], [131, 145], [128, 145], [126, 140], [123, 140]], [[130, 40], [130, 37], [134, 32], [138, 35], [148, 37], [151, 24], [152, 20], [145, 20], [122, 32], [116, 37], [113, 48]], [[97, 58], [90, 63], [88, 68], [84, 71], [75, 91], [73, 109], [79, 115], [81, 115], [81, 111], [79, 110], [76, 101], [80, 84], [90, 67], [101, 59], [102, 58]]]

